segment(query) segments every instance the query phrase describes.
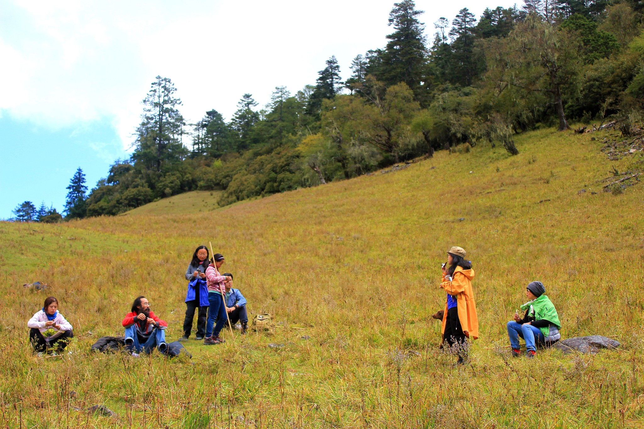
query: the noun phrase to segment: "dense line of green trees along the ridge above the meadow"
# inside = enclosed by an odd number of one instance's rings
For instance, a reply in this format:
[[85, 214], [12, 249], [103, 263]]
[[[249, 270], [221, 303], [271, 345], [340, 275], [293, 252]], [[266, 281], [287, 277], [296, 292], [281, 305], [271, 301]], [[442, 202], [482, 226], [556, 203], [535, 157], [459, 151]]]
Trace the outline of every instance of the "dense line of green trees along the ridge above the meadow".
[[[229, 205], [459, 145], [488, 142], [515, 155], [513, 135], [536, 127], [637, 120], [643, 10], [633, 0], [526, 0], [477, 20], [464, 8], [434, 23], [428, 42], [423, 12], [403, 0], [388, 17], [386, 46], [357, 55], [346, 82], [332, 56], [314, 85], [296, 93], [278, 86], [261, 108], [244, 94], [229, 121], [213, 109], [185, 123], [173, 82], [158, 76], [133, 153], [89, 193], [77, 170], [66, 219], [116, 215], [191, 190], [222, 190], [219, 204]], [[29, 220], [48, 215], [44, 206], [16, 210], [22, 219], [24, 210]]]

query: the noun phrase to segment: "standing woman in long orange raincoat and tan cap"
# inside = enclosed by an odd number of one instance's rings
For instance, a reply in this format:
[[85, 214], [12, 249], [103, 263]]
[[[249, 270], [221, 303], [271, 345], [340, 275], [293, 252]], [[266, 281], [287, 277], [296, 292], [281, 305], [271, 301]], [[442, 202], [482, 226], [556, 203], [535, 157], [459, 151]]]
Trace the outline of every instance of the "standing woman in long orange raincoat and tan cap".
[[465, 260], [465, 250], [454, 246], [447, 253], [447, 265], [442, 267], [440, 288], [447, 292], [442, 322], [443, 342], [457, 352], [457, 363], [468, 359], [468, 338], [478, 338], [477, 307], [474, 302], [472, 263]]

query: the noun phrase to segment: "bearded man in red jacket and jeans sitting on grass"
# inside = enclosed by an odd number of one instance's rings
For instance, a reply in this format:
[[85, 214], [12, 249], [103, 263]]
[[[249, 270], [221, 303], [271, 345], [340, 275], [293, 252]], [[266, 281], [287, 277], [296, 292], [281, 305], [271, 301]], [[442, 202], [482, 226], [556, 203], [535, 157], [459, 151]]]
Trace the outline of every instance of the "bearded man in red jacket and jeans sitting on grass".
[[150, 310], [146, 297], [137, 297], [132, 304], [132, 311], [123, 319], [125, 327], [125, 347], [132, 356], [138, 356], [141, 350], [150, 354], [155, 347], [162, 353], [167, 352], [167, 323], [155, 316]]

